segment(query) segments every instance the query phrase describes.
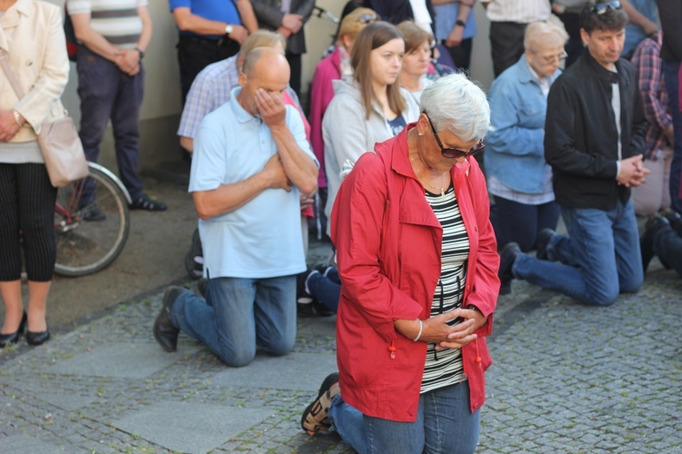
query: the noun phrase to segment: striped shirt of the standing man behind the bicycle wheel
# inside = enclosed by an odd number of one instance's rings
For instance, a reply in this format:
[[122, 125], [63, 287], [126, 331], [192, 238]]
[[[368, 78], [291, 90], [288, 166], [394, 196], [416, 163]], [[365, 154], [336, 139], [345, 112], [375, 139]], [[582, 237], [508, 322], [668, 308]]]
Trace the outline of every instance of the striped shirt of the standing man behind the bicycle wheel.
[[123, 49], [135, 49], [142, 35], [137, 7], [147, 0], [66, 0], [69, 15], [90, 14], [90, 26], [106, 40]]

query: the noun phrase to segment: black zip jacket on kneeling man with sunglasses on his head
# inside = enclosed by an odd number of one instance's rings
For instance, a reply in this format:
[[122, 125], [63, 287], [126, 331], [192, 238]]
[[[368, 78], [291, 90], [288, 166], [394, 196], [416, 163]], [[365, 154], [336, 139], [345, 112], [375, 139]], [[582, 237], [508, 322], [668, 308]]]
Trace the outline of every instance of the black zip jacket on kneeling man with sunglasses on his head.
[[621, 157], [645, 151], [647, 120], [637, 88], [637, 70], [624, 59], [618, 74], [586, 50], [552, 85], [547, 97], [545, 159], [554, 173], [559, 204], [611, 210], [627, 202], [630, 191], [618, 185], [618, 133], [611, 107], [612, 80], [620, 89]]

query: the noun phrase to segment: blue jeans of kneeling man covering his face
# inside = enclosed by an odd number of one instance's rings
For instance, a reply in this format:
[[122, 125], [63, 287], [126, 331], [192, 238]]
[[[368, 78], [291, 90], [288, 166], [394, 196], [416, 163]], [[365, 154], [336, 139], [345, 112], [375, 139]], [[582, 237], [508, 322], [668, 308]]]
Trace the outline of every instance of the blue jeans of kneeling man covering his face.
[[246, 366], [256, 356], [256, 345], [285, 355], [296, 341], [296, 276], [211, 279], [206, 301], [183, 291], [172, 319], [228, 366]]

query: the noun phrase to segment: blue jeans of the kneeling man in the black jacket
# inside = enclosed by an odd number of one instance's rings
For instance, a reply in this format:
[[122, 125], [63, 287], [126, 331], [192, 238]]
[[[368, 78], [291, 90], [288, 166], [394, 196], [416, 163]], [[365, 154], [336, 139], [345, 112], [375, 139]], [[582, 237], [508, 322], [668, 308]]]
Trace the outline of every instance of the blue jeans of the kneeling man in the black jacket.
[[562, 207], [561, 213], [569, 236], [555, 234], [547, 245], [548, 258], [559, 263], [520, 254], [516, 277], [595, 306], [639, 290], [644, 273], [631, 201], [609, 211]]

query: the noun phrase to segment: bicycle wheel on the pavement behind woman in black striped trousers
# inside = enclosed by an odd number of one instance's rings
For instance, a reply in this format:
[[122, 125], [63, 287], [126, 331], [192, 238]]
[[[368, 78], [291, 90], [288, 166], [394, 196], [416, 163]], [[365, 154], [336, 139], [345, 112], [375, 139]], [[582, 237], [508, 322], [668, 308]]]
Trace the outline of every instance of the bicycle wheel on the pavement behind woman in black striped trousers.
[[[86, 182], [86, 183], [85, 183]], [[93, 188], [85, 202], [84, 189]], [[98, 210], [96, 220], [84, 215]], [[57, 192], [55, 273], [85, 276], [103, 270], [123, 251], [130, 229], [128, 202], [115, 181], [90, 166], [84, 180], [70, 183]]]

